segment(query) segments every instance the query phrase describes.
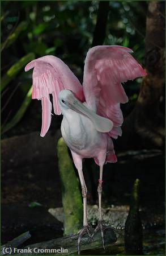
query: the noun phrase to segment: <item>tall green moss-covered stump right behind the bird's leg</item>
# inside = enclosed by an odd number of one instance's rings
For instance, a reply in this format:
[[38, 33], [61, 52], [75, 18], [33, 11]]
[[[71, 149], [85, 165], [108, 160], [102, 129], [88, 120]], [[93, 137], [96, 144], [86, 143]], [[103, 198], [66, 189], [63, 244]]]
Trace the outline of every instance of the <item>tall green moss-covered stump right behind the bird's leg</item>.
[[75, 174], [67, 146], [60, 138], [57, 144], [58, 166], [62, 187], [62, 204], [64, 212], [64, 232], [69, 235], [82, 228], [83, 204], [79, 189], [79, 180]]

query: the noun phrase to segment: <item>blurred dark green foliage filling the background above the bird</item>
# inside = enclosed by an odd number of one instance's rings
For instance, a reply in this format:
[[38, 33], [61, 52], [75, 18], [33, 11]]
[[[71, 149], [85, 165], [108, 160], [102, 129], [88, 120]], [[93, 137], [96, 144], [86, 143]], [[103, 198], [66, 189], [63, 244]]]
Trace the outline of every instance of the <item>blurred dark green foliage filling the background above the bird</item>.
[[[4, 77], [11, 65], [32, 52], [36, 57], [56, 55], [69, 65], [82, 82], [84, 58], [93, 40], [99, 1], [10, 1], [2, 2], [2, 88]], [[146, 1], [110, 1], [104, 44], [119, 44], [134, 50], [134, 57], [142, 63], [146, 20]], [[30, 58], [31, 59], [31, 58]], [[31, 71], [30, 71], [31, 72]], [[30, 73], [23, 67], [7, 80], [6, 89], [20, 82], [17, 100], [22, 105], [31, 85]], [[6, 79], [5, 79], [6, 81]], [[29, 86], [25, 86], [25, 82]], [[131, 100], [137, 100], [139, 82], [125, 86]], [[20, 97], [21, 95], [21, 97]], [[2, 104], [7, 93], [3, 92]], [[18, 109], [13, 109], [14, 97], [3, 111], [2, 123], [11, 111], [11, 120]], [[22, 116], [23, 117], [23, 116]], [[8, 121], [8, 120], [7, 120]]]

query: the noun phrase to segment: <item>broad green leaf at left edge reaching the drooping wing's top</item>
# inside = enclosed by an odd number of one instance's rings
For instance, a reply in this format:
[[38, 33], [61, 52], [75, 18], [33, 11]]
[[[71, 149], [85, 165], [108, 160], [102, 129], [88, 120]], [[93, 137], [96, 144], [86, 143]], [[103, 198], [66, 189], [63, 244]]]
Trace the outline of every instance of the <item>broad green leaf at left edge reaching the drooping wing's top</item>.
[[19, 73], [19, 71], [24, 68], [24, 66], [31, 60], [35, 59], [34, 53], [28, 53], [22, 59], [18, 61], [18, 63], [15, 63], [11, 66], [10, 69], [6, 72], [6, 74], [1, 79], [1, 91], [6, 87], [6, 85], [14, 79], [14, 77]]

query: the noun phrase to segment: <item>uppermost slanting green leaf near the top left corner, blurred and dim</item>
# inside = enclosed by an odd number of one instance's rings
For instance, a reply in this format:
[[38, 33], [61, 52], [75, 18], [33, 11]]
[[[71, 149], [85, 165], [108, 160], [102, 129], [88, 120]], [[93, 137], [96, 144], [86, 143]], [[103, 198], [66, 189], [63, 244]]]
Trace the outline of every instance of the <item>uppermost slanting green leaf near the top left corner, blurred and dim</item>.
[[7, 48], [9, 46], [11, 46], [12, 43], [15, 42], [15, 40], [18, 38], [20, 32], [22, 32], [23, 30], [25, 30], [28, 26], [27, 22], [21, 22], [14, 30], [14, 32], [12, 32], [11, 35], [9, 35], [7, 37], [7, 39], [5, 40], [4, 43], [2, 43], [1, 46], [1, 51], [3, 51], [4, 48]]

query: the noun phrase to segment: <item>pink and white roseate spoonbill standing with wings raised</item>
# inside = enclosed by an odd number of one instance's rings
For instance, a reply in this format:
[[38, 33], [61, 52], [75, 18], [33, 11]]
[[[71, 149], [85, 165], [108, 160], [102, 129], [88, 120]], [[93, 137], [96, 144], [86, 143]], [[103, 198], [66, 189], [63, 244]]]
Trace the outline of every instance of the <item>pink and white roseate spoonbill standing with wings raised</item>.
[[[104, 246], [101, 192], [103, 165], [117, 162], [113, 141], [122, 135], [123, 115], [120, 103], [128, 101], [121, 82], [145, 76], [141, 65], [131, 56], [131, 49], [122, 46], [96, 46], [86, 56], [83, 86], [61, 59], [44, 56], [31, 61], [25, 71], [33, 69], [32, 98], [41, 100], [41, 137], [49, 129], [54, 113], [63, 114], [62, 137], [71, 150], [78, 170], [83, 196], [83, 228], [79, 232], [78, 252], [84, 233], [91, 237], [87, 222], [87, 188], [82, 172], [82, 159], [93, 158], [100, 167], [97, 192], [99, 194], [99, 223], [95, 229], [101, 232]], [[93, 234], [94, 234], [93, 233]], [[93, 236], [93, 235], [92, 235]]]

